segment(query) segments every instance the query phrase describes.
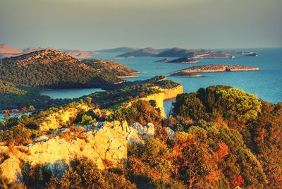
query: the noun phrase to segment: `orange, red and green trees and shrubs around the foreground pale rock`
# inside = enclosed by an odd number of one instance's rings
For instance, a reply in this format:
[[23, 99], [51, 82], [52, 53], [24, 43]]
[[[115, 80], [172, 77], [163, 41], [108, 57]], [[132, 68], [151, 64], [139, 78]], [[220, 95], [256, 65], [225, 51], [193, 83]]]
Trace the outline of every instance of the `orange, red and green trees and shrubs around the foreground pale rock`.
[[[130, 87], [137, 90], [135, 85]], [[79, 114], [76, 123], [91, 124], [94, 119], [152, 122], [157, 134], [144, 144], [131, 145], [126, 164], [118, 167], [99, 170], [88, 159], [73, 159], [66, 168], [61, 162], [58, 167], [63, 171], [57, 172], [47, 165], [35, 170], [23, 166], [27, 188], [281, 188], [281, 103], [270, 104], [233, 87], [211, 86], [178, 95], [173, 115], [165, 119], [154, 102], [140, 100], [102, 114], [102, 109], [93, 106], [94, 99], [87, 98], [87, 104], [96, 109]], [[59, 109], [42, 111], [40, 116], [53, 111]], [[1, 142], [29, 142], [37, 135], [40, 116], [8, 118]], [[173, 130], [174, 138], [168, 137], [166, 127]], [[83, 138], [80, 128], [69, 130]], [[72, 140], [67, 129], [60, 135]]]

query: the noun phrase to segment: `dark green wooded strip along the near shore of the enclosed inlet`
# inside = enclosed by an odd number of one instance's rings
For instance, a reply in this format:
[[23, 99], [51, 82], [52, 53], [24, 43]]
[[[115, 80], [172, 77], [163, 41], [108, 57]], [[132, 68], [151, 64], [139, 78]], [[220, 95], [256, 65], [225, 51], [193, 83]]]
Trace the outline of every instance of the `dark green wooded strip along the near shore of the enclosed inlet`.
[[[61, 106], [70, 102], [79, 102], [78, 98], [51, 99], [46, 95], [40, 94], [40, 90], [42, 90], [42, 88], [14, 85], [8, 82], [4, 83], [6, 92], [3, 92], [4, 88], [1, 91], [0, 87], [0, 110], [22, 109], [23, 107], [28, 107], [30, 105], [39, 110], [47, 109], [52, 106]], [[92, 101], [95, 104], [99, 104], [102, 108], [109, 108], [110, 106], [115, 108], [116, 106], [129, 102], [133, 99], [146, 97], [148, 94], [160, 92], [157, 87], [167, 89], [178, 85], [178, 83], [174, 83], [171, 80], [166, 80], [166, 77], [161, 75], [149, 80], [111, 85], [113, 88], [112, 90], [96, 92], [90, 94], [89, 97], [92, 97]], [[87, 96], [81, 97], [81, 99], [86, 100]]]

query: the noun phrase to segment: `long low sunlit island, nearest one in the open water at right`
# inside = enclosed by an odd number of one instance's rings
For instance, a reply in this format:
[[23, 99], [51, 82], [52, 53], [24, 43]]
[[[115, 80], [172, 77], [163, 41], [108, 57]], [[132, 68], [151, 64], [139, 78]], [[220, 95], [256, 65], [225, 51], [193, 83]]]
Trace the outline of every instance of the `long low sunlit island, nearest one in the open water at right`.
[[257, 67], [249, 67], [242, 65], [224, 65], [224, 64], [208, 64], [204, 66], [193, 66], [183, 70], [171, 73], [171, 76], [178, 77], [200, 77], [194, 73], [210, 73], [210, 72], [229, 72], [229, 71], [259, 71]]

